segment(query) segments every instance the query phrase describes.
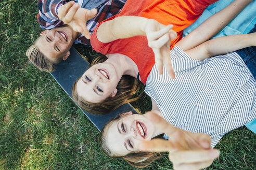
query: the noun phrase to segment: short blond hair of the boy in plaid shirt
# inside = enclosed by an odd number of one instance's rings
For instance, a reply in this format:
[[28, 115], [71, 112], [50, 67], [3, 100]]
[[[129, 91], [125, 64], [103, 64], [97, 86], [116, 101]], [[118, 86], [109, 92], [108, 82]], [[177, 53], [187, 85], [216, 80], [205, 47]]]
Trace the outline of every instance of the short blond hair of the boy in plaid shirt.
[[[39, 38], [37, 38], [37, 40]], [[29, 49], [26, 52], [26, 55], [28, 56], [29, 60], [34, 64], [34, 66], [39, 68], [41, 71], [54, 72], [55, 64], [61, 62], [62, 58], [59, 58], [56, 63], [50, 61], [42, 53], [42, 51], [40, 51], [39, 47], [35, 45], [36, 41], [34, 42], [34, 44], [32, 46], [29, 47]]]

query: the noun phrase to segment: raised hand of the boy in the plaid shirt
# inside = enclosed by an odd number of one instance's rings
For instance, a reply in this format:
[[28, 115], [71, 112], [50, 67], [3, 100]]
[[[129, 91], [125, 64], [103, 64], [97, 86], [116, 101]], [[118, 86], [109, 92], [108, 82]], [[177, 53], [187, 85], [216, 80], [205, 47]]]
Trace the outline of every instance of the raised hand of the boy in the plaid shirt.
[[97, 9], [80, 8], [79, 4], [73, 1], [60, 6], [58, 9], [59, 19], [70, 25], [75, 32], [82, 33], [87, 39], [91, 38], [91, 34], [88, 32], [86, 22], [95, 17], [96, 14]]

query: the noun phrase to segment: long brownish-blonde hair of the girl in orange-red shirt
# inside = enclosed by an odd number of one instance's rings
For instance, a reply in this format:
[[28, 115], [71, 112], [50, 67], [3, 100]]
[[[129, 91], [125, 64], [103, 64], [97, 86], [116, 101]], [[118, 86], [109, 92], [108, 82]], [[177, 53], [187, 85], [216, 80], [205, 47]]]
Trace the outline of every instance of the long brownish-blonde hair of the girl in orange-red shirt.
[[[100, 55], [92, 62], [91, 66], [97, 63], [104, 62], [106, 60], [107, 60], [107, 56]], [[89, 112], [90, 114], [94, 114], [94, 115], [107, 114], [117, 109], [118, 107], [122, 106], [125, 103], [138, 100], [138, 98], [140, 97], [138, 96], [135, 98], [131, 98], [139, 90], [139, 81], [132, 76], [123, 75], [121, 80], [118, 82], [118, 85], [117, 85], [118, 91], [114, 97], [108, 96], [105, 100], [99, 103], [87, 102], [83, 99], [83, 97], [80, 97], [78, 95], [78, 92], [76, 91], [76, 84], [78, 80], [76, 80], [76, 82], [72, 87], [72, 98], [83, 110]]]

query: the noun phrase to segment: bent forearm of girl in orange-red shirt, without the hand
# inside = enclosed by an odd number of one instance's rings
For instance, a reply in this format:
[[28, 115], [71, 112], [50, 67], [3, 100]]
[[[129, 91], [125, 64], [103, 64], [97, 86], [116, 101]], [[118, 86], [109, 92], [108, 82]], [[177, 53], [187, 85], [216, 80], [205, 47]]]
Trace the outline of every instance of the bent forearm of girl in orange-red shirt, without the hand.
[[97, 38], [109, 43], [120, 38], [129, 38], [145, 34], [145, 25], [149, 19], [135, 16], [117, 17], [102, 23], [97, 30]]

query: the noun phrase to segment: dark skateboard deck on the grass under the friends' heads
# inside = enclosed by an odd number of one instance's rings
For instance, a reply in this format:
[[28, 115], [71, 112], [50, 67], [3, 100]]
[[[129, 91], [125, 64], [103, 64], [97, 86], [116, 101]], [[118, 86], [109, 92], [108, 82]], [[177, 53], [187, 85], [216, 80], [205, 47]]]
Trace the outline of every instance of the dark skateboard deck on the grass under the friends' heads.
[[[88, 68], [89, 63], [83, 59], [83, 57], [72, 47], [70, 49], [70, 56], [66, 61], [60, 62], [56, 65], [55, 72], [50, 73], [55, 80], [59, 83], [60, 87], [71, 97], [71, 90], [74, 82], [83, 75]], [[107, 115], [92, 115], [81, 109], [84, 114], [93, 122], [93, 124], [100, 131], [105, 123], [111, 118], [116, 117], [127, 111], [132, 111], [133, 114], [137, 114], [137, 111], [129, 103], [117, 108]]]

